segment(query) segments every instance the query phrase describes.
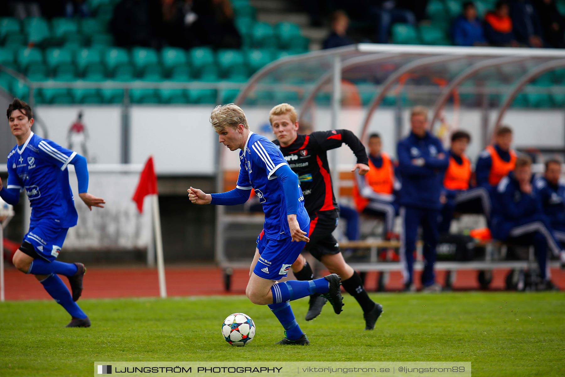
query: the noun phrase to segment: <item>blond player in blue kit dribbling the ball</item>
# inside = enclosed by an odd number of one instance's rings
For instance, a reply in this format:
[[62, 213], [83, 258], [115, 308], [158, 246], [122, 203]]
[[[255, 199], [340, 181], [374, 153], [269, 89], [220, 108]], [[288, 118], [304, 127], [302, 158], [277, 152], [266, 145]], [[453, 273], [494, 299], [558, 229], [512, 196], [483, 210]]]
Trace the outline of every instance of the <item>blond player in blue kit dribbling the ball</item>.
[[280, 150], [268, 138], [249, 129], [243, 110], [230, 103], [217, 106], [210, 115], [212, 127], [219, 142], [229, 150], [240, 151], [240, 175], [235, 189], [206, 194], [188, 189], [190, 201], [195, 204], [237, 205], [249, 199], [249, 190], [255, 189], [263, 205], [265, 222], [257, 240], [255, 257], [249, 271], [245, 294], [253, 304], [268, 305], [285, 329], [285, 337], [278, 344], [310, 344], [302, 332], [289, 301], [323, 294], [336, 314], [342, 310], [341, 279], [336, 274], [309, 281], [289, 280], [279, 283], [304, 248], [310, 227], [310, 218], [304, 208], [304, 197], [298, 177]]

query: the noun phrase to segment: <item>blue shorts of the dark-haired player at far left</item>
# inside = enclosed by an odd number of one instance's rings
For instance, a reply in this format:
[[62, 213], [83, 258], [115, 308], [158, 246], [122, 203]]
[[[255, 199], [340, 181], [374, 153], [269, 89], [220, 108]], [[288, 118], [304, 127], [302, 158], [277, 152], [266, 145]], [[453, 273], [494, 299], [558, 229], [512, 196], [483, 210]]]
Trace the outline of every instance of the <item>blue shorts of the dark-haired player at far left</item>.
[[24, 241], [32, 244], [41, 258], [53, 262], [59, 256], [67, 231], [68, 228], [60, 227], [51, 219], [32, 221]]

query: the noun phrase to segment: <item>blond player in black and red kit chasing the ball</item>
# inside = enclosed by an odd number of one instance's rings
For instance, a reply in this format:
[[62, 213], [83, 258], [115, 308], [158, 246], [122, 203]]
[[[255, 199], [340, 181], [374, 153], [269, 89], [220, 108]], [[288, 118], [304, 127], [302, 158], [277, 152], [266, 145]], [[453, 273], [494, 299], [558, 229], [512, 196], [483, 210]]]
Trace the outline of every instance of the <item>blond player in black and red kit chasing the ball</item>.
[[[341, 255], [337, 240], [332, 232], [336, 229], [339, 210], [333, 195], [332, 177], [329, 172], [326, 152], [347, 144], [357, 157], [357, 164], [351, 170], [359, 169], [360, 175], [369, 171], [365, 148], [353, 132], [346, 129], [317, 131], [310, 135], [298, 135], [297, 114], [294, 107], [281, 103], [273, 107], [269, 120], [277, 140], [273, 141], [282, 152], [290, 168], [298, 175], [304, 194], [304, 206], [310, 215], [310, 231], [305, 251], [323, 263], [332, 274], [341, 276], [342, 285], [363, 309], [365, 330], [373, 330], [383, 306], [368, 296], [357, 272]], [[311, 280], [314, 276], [306, 259], [299, 255], [292, 265], [297, 280]], [[325, 304], [325, 298], [313, 294], [306, 320], [316, 318]]]

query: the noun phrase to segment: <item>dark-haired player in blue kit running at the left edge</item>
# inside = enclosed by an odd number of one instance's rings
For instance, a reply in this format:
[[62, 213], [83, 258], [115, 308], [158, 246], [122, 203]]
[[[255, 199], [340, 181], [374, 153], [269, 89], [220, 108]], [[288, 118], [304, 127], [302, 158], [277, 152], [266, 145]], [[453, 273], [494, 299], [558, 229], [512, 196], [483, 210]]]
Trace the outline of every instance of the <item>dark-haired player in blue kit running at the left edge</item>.
[[[72, 150], [31, 131], [33, 112], [19, 99], [8, 106], [6, 113], [10, 131], [18, 145], [8, 154], [8, 183], [0, 180], [0, 197], [12, 205], [20, 200], [20, 190], [27, 193], [32, 207], [29, 232], [14, 254], [14, 266], [25, 274], [33, 274], [45, 291], [71, 314], [67, 327], [89, 327], [90, 320], [75, 301], [82, 293], [82, 263], [64, 263], [58, 257], [68, 228], [76, 225], [78, 215], [69, 185], [68, 164], [75, 166], [79, 196], [92, 210], [105, 201], [87, 193], [86, 159]], [[71, 293], [58, 275], [67, 276]]]

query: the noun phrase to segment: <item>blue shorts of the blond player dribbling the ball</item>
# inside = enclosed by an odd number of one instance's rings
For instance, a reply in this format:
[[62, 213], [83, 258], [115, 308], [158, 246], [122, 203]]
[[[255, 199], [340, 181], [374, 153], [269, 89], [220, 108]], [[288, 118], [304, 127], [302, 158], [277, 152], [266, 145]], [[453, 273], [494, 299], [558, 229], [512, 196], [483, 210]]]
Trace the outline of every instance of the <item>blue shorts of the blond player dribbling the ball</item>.
[[[302, 231], [308, 232], [310, 223], [305, 227], [301, 226]], [[259, 250], [259, 261], [253, 268], [253, 273], [259, 278], [267, 280], [280, 280], [286, 277], [286, 272], [290, 270], [292, 263], [296, 261], [298, 255], [304, 249], [306, 242], [292, 242], [292, 238], [287, 237], [280, 240], [270, 240], [262, 231], [257, 236], [257, 249]]]

